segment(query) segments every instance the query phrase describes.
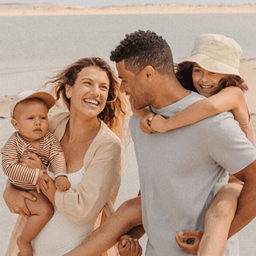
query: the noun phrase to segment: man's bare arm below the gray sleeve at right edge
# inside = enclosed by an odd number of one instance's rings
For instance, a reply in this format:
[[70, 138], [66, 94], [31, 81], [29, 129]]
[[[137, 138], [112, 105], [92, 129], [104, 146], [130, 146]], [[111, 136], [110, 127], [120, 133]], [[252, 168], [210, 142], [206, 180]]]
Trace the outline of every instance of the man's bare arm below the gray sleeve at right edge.
[[228, 238], [238, 233], [256, 216], [256, 160], [234, 176], [245, 184], [238, 198], [238, 208], [230, 225]]

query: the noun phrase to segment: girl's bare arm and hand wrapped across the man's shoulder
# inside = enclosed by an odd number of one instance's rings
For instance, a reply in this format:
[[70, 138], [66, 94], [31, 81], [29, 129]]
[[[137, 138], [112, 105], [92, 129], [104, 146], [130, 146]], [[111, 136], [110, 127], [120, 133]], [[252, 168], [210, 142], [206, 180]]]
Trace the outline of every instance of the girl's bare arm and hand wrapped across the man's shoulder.
[[167, 132], [225, 111], [231, 111], [239, 123], [249, 122], [245, 97], [239, 87], [226, 87], [216, 95], [198, 100], [169, 119], [157, 114], [149, 124], [157, 132]]

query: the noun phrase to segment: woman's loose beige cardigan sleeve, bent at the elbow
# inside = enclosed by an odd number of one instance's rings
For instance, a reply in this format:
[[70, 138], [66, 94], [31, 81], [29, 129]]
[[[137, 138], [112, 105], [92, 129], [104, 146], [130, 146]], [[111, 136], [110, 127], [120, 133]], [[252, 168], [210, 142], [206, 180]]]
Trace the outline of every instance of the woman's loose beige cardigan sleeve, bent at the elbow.
[[85, 177], [75, 191], [56, 191], [55, 205], [60, 213], [79, 225], [95, 219], [119, 188], [121, 166], [121, 144], [106, 139], [97, 146], [95, 156], [85, 169]]

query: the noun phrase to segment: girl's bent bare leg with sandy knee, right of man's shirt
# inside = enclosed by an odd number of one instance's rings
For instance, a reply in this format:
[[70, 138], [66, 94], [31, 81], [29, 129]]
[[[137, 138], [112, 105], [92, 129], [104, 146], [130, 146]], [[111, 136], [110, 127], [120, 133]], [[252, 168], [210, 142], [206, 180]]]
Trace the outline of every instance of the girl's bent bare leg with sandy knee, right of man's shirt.
[[228, 240], [242, 185], [228, 183], [213, 199], [206, 213], [205, 230], [198, 256], [221, 256]]

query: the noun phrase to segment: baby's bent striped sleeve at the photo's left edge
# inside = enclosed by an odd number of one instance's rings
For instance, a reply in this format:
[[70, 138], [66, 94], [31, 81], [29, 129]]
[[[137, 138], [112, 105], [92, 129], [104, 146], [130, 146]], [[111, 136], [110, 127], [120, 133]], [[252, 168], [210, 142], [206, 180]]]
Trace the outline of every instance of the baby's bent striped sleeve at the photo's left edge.
[[18, 159], [20, 158], [18, 146], [18, 142], [13, 134], [1, 149], [4, 174], [6, 174], [11, 181], [26, 182], [36, 185], [39, 169], [32, 169], [18, 164]]

